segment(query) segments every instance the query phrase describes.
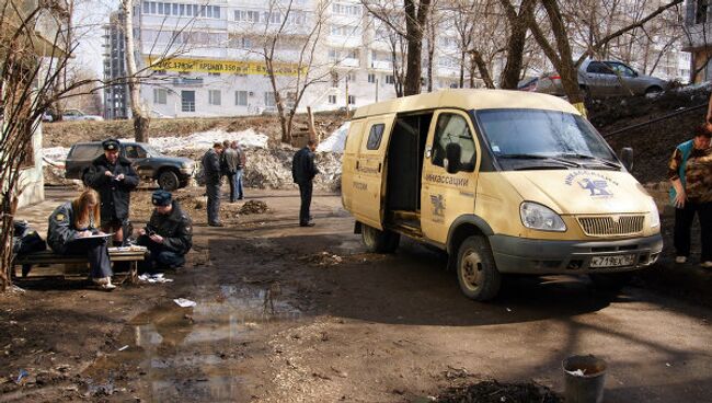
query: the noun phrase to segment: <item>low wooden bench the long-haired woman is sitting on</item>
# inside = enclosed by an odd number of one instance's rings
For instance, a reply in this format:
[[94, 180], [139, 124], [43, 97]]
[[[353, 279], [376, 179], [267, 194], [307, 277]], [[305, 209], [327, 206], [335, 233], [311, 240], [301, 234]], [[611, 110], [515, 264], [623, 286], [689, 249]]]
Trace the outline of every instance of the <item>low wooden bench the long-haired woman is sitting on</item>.
[[[130, 284], [138, 283], [138, 262], [146, 258], [146, 250], [126, 250], [118, 247], [108, 249], [108, 257], [112, 262], [130, 262], [128, 280]], [[65, 270], [67, 265], [89, 264], [87, 256], [82, 255], [58, 255], [50, 250], [43, 252], [30, 253], [23, 256], [18, 256], [12, 262], [12, 274], [15, 274], [15, 266], [24, 265], [57, 265], [64, 264]]]

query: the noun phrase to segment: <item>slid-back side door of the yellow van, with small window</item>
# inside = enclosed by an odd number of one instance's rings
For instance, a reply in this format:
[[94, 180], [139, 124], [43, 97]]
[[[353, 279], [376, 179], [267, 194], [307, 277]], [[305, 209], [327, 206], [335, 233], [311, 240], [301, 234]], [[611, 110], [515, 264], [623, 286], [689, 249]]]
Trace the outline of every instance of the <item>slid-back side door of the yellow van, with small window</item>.
[[352, 183], [354, 217], [378, 229], [383, 228], [386, 158], [394, 118], [389, 114], [366, 119]]

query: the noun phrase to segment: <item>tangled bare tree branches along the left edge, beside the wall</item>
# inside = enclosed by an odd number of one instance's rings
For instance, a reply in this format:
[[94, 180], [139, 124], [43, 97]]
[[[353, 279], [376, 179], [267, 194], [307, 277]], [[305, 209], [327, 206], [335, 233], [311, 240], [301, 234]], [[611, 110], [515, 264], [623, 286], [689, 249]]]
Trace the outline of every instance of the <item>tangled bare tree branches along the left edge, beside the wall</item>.
[[[2, 136], [0, 138], [0, 290], [11, 285], [13, 217], [24, 189], [22, 166], [34, 163], [33, 136], [42, 114], [88, 81], [56, 83], [73, 51], [68, 42], [71, 5], [4, 1], [0, 5]], [[51, 28], [51, 30], [50, 30]]]

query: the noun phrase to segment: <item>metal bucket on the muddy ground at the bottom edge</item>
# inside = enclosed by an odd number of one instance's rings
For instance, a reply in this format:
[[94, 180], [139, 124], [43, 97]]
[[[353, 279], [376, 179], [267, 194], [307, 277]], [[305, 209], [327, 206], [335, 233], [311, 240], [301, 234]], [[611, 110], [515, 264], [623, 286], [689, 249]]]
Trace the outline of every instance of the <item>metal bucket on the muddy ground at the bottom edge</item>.
[[561, 362], [564, 370], [566, 403], [600, 403], [607, 365], [592, 355], [571, 356]]

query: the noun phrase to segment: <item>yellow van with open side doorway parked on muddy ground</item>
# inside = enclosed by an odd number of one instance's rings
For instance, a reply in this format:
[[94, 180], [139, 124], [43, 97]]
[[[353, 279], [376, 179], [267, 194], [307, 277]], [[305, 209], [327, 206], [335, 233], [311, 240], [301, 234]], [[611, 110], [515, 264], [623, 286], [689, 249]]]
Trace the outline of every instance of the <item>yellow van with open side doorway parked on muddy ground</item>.
[[447, 251], [475, 300], [496, 296], [508, 273], [618, 285], [663, 249], [653, 198], [596, 129], [531, 92], [449, 90], [359, 107], [342, 202], [374, 252], [394, 251], [401, 235]]

